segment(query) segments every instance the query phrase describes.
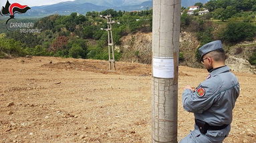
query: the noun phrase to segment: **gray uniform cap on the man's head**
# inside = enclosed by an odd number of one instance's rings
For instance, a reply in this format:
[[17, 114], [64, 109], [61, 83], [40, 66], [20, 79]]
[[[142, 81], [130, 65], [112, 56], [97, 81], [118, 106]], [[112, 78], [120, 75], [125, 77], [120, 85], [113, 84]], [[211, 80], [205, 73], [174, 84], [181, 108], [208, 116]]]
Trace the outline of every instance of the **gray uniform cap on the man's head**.
[[223, 49], [221, 41], [213, 41], [210, 43], [207, 43], [206, 45], [203, 45], [201, 48], [199, 48], [199, 54], [201, 55], [200, 57], [200, 61], [203, 58], [203, 55], [211, 52], [211, 51], [215, 51], [218, 49]]

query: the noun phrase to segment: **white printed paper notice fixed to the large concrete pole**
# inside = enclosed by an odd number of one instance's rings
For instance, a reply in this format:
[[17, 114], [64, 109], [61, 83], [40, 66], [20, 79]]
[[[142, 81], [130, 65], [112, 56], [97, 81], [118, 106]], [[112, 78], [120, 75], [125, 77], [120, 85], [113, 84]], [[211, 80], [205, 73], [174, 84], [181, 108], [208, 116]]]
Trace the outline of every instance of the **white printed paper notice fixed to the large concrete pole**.
[[174, 78], [174, 60], [154, 58], [153, 76], [158, 78]]

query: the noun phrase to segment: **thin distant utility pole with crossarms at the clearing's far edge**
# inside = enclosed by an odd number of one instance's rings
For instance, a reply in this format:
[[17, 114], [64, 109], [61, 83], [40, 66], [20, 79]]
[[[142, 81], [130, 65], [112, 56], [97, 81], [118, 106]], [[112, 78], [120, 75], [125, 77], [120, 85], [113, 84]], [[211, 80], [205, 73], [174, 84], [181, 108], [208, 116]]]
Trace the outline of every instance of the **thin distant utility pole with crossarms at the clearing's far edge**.
[[[110, 63], [109, 69], [110, 70], [116, 70], [116, 61], [114, 57], [114, 42], [113, 42], [113, 35], [112, 35], [112, 24], [116, 23], [115, 21], [112, 21], [111, 15], [100, 15], [100, 17], [104, 17], [105, 19], [108, 19], [108, 29], [102, 29], [108, 31], [108, 61]], [[112, 56], [112, 57], [111, 57]]]

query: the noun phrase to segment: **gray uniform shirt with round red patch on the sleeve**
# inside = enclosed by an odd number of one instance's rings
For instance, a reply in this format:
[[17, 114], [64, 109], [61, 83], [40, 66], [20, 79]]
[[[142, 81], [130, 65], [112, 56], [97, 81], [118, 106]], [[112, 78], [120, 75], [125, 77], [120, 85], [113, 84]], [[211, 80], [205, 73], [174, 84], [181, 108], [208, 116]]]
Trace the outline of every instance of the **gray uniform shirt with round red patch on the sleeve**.
[[[208, 122], [211, 126], [222, 126], [231, 124], [232, 110], [238, 96], [239, 82], [229, 67], [225, 66], [211, 72], [195, 92], [184, 90], [182, 103], [185, 110], [194, 112], [196, 119]], [[223, 130], [208, 131], [207, 134], [227, 136], [229, 131], [230, 126]]]

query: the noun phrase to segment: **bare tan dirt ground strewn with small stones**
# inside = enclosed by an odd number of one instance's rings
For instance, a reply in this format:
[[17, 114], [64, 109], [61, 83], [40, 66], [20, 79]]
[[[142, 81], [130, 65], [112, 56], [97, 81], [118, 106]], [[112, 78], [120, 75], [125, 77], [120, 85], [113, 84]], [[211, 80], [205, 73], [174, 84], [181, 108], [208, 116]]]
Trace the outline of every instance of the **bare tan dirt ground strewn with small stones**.
[[[0, 59], [0, 142], [151, 142], [151, 66], [23, 57]], [[241, 84], [225, 143], [256, 142], [256, 75], [235, 72]], [[183, 86], [207, 71], [179, 67], [178, 140], [193, 130], [182, 108]]]

